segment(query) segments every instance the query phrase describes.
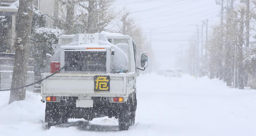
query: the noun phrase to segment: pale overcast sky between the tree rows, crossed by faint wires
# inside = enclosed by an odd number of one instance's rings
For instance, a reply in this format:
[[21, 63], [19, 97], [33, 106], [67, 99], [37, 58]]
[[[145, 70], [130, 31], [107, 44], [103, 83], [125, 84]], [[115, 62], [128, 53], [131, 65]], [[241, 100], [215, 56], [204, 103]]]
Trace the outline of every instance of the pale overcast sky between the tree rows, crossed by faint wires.
[[210, 32], [221, 10], [215, 0], [116, 0], [114, 6], [125, 6], [148, 40], [152, 31], [152, 47], [161, 69], [175, 68], [177, 51], [187, 49], [197, 24], [201, 43], [202, 20], [209, 20]]

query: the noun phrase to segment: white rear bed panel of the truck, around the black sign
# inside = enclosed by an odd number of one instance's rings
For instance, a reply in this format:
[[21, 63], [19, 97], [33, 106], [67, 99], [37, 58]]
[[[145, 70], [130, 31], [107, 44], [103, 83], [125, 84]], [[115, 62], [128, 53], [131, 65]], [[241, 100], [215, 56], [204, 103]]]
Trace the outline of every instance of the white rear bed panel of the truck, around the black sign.
[[[42, 73], [42, 78], [51, 73]], [[94, 77], [110, 76], [109, 91], [95, 91]], [[42, 82], [42, 96], [116, 96], [126, 95], [126, 87], [129, 76], [119, 74], [74, 74], [58, 73]], [[130, 81], [131, 82], [131, 79]], [[132, 81], [133, 82], [133, 81]], [[134, 82], [133, 82], [134, 83]], [[131, 84], [132, 85], [132, 84]], [[132, 85], [133, 86], [133, 85]], [[128, 87], [128, 88], [134, 88]]]

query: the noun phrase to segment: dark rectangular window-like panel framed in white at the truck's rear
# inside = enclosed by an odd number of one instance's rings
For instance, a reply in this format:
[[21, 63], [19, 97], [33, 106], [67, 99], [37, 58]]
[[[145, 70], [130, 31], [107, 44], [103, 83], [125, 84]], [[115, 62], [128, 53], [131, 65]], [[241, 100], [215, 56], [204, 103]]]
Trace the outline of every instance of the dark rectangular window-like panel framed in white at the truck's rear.
[[105, 72], [106, 52], [65, 51], [65, 71]]

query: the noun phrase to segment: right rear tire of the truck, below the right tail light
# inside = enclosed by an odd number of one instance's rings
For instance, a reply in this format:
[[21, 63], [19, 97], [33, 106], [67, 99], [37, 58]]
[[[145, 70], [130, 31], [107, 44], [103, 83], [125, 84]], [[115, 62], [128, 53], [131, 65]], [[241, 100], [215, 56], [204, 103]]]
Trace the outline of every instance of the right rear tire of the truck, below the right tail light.
[[119, 130], [128, 130], [130, 126], [130, 107], [125, 104], [122, 111], [119, 113], [118, 126]]

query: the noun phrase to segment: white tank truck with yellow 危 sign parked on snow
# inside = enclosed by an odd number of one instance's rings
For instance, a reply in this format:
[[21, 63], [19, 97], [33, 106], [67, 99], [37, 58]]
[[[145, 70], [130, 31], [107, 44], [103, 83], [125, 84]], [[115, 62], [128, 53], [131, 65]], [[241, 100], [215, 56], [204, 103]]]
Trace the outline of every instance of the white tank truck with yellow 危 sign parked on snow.
[[[64, 35], [58, 43], [52, 45], [51, 73], [42, 73], [45, 78], [60, 71], [41, 84], [48, 128], [70, 118], [90, 121], [108, 116], [118, 119], [119, 130], [128, 130], [135, 122], [136, 70], [140, 69], [132, 38], [101, 32]], [[148, 55], [142, 53], [141, 67], [147, 66]]]

